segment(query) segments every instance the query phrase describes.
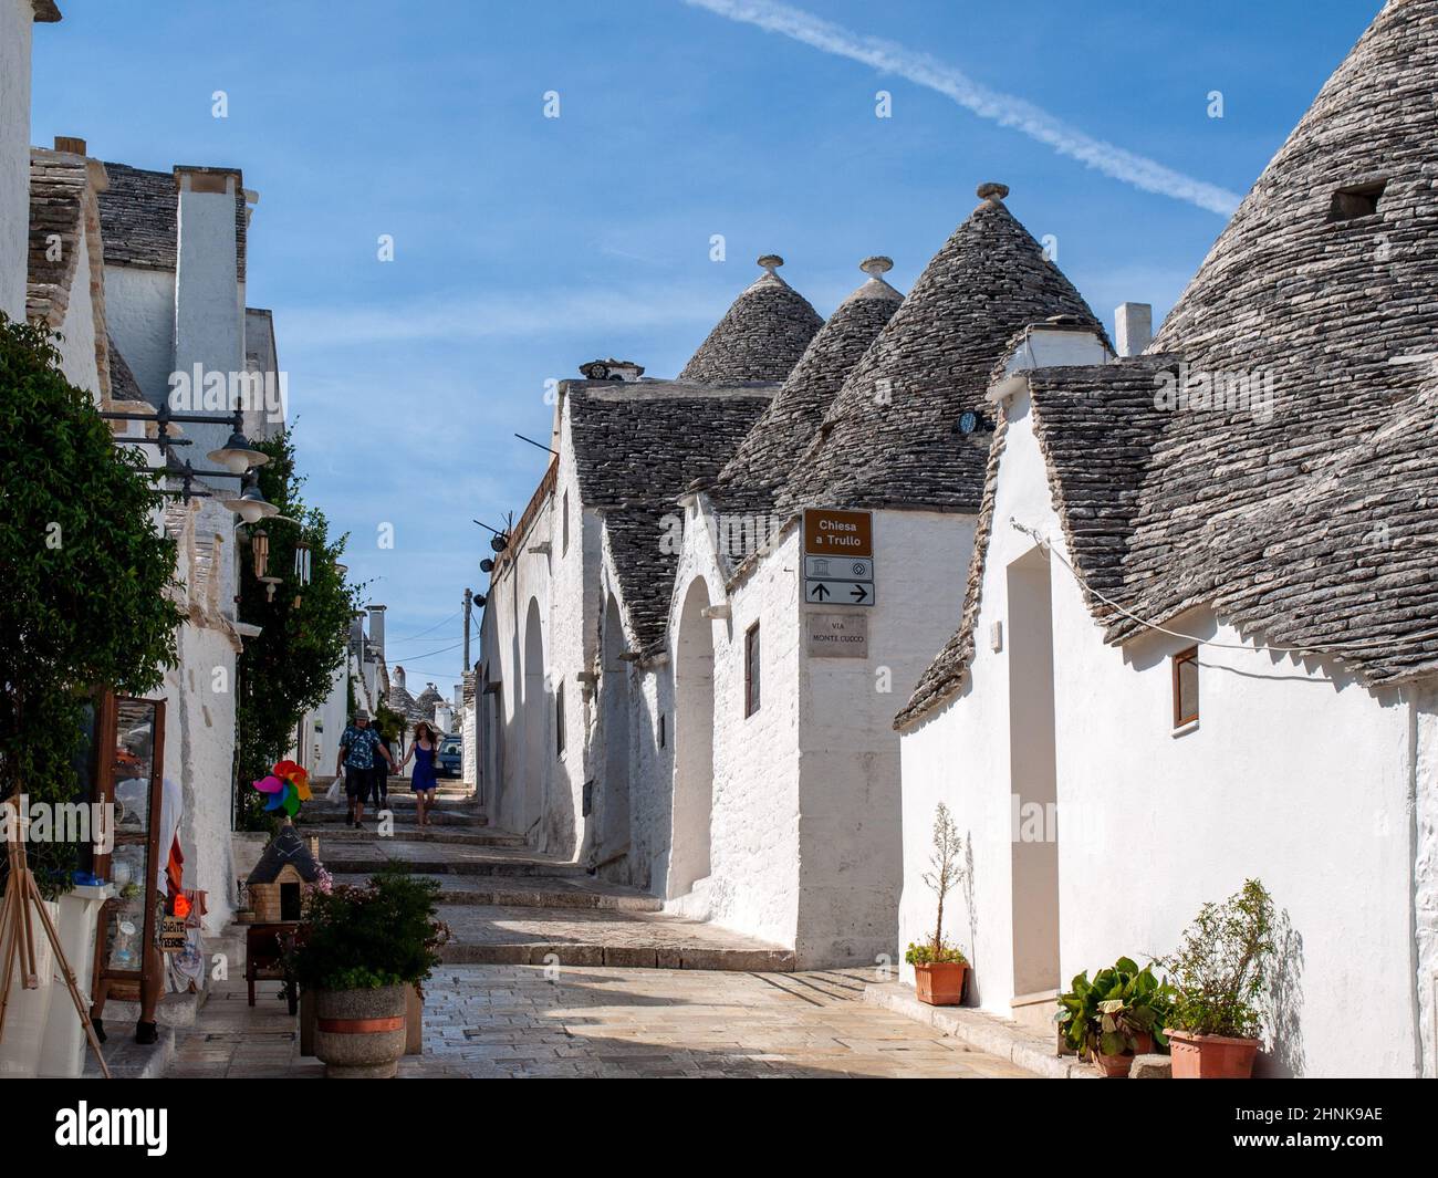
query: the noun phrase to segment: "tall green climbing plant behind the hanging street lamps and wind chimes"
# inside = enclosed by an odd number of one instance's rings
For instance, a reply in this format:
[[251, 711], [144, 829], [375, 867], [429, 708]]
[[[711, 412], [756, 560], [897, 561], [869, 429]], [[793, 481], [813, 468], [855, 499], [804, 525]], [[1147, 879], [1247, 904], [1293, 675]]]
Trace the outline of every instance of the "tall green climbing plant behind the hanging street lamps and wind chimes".
[[[239, 657], [242, 784], [269, 772], [293, 745], [305, 712], [329, 695], [335, 669], [345, 660], [349, 618], [360, 608], [361, 593], [338, 568], [348, 537], [331, 539], [325, 513], [305, 506], [299, 496], [305, 480], [295, 470], [290, 430], [256, 443], [256, 449], [270, 456], [259, 467], [260, 490], [280, 515], [298, 522], [267, 519], [256, 525], [269, 537], [269, 575], [283, 578], [273, 598], [255, 575], [250, 545], [240, 544], [240, 618], [262, 627], [257, 637], [246, 639]], [[295, 548], [301, 542], [311, 549], [308, 585], [295, 574]], [[242, 788], [237, 824], [246, 830], [270, 828], [273, 820], [263, 813], [263, 803], [255, 790]]]

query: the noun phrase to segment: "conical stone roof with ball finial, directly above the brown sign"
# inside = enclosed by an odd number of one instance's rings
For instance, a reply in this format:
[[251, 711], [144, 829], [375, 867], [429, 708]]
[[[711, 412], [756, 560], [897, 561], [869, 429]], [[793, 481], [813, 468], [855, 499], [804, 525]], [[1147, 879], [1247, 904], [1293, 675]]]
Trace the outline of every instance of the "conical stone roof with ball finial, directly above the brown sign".
[[[830, 503], [975, 512], [984, 455], [956, 432], [988, 411], [988, 373], [1008, 338], [1051, 315], [1097, 319], [1004, 206], [1002, 184], [925, 268], [854, 365], [779, 495], [784, 512]], [[1099, 328], [1102, 332], [1102, 327]]]

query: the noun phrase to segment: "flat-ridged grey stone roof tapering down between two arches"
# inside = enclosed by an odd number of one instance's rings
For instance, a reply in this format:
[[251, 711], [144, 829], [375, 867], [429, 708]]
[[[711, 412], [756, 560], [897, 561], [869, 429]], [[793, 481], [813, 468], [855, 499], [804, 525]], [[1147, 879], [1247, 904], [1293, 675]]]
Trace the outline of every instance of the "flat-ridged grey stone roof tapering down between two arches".
[[565, 381], [580, 495], [604, 513], [634, 650], [664, 643], [679, 554], [661, 541], [682, 515], [676, 498], [719, 473], [774, 393], [772, 384]]

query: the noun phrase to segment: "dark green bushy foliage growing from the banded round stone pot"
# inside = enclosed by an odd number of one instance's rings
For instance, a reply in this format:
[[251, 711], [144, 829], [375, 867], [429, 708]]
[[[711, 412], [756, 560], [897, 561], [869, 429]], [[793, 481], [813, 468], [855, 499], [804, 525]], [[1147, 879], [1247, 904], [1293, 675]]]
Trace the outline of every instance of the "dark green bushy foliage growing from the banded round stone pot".
[[449, 928], [436, 919], [439, 885], [387, 864], [362, 887], [308, 893], [288, 951], [306, 990], [420, 985], [439, 965]]

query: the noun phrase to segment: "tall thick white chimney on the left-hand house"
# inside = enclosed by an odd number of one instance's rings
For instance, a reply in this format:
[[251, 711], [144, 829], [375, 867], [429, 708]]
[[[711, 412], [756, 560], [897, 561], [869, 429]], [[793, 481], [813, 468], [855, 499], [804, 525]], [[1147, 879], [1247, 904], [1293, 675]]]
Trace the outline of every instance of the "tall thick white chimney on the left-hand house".
[[[187, 413], [230, 413], [244, 371], [244, 301], [240, 293], [239, 237], [234, 203], [242, 191], [240, 173], [232, 168], [175, 168], [178, 188], [178, 246], [175, 250], [175, 373], [186, 374], [200, 404]], [[198, 365], [198, 367], [197, 367]], [[196, 373], [206, 387], [196, 390]], [[223, 388], [213, 381], [223, 380]], [[233, 391], [232, 391], [233, 390]], [[230, 436], [230, 423], [186, 424], [194, 442], [183, 459], [214, 469], [206, 457]], [[234, 492], [234, 479], [219, 479]]]

